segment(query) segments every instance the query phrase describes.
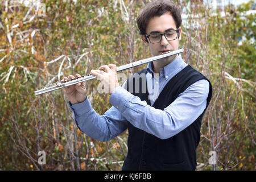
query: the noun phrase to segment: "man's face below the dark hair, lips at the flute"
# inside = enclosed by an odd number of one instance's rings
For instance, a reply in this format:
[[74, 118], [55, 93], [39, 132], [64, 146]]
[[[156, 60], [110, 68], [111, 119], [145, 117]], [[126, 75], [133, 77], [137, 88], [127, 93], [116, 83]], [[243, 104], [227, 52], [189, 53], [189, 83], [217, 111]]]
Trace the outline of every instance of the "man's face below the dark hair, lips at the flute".
[[[164, 33], [169, 30], [177, 30], [175, 20], [172, 18], [170, 13], [163, 14], [162, 16], [155, 16], [151, 18], [147, 24], [146, 34], [150, 35], [153, 33]], [[142, 35], [142, 39], [146, 46], [150, 48], [152, 56], [158, 56], [164, 53], [164, 51], [176, 51], [179, 49], [179, 40], [181, 40], [181, 28], [179, 31], [179, 38], [175, 40], [168, 41], [164, 36], [162, 36], [162, 40], [159, 43], [150, 43], [145, 41], [145, 36]], [[166, 61], [166, 63], [171, 63], [177, 55], [167, 57], [162, 61]]]

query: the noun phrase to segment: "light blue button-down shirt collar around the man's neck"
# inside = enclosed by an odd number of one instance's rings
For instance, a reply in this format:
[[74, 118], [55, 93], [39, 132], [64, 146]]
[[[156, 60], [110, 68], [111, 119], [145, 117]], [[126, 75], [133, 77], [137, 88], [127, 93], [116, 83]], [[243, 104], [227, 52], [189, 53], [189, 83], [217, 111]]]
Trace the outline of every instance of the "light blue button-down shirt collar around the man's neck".
[[[170, 64], [167, 64], [165, 67], [160, 68], [160, 76], [163, 76], [168, 79], [176, 71], [176, 69], [180, 68], [181, 64], [183, 64], [184, 61], [179, 54], [174, 61], [172, 61]], [[151, 73], [152, 77], [154, 77], [154, 71], [153, 71], [153, 62], [150, 62], [147, 64], [147, 72]]]

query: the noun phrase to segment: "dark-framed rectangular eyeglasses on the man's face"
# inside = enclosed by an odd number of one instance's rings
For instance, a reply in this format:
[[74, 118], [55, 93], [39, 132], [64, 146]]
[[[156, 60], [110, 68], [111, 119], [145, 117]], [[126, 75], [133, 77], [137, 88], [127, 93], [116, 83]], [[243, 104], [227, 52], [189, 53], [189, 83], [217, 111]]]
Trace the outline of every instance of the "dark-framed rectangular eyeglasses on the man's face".
[[146, 37], [148, 38], [148, 40], [150, 40], [150, 43], [156, 44], [161, 42], [163, 35], [168, 41], [170, 41], [170, 40], [177, 39], [178, 34], [179, 34], [179, 30], [170, 30], [170, 31], [164, 32], [163, 34], [160, 34], [160, 33], [150, 34], [150, 35], [146, 34]]

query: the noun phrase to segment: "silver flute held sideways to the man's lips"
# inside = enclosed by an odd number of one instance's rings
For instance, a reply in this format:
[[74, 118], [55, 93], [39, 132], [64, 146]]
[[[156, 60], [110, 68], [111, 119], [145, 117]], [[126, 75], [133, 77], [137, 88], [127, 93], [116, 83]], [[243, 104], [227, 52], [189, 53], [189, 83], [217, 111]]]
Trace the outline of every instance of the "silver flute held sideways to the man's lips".
[[[129, 69], [129, 68], [137, 67], [142, 64], [150, 63], [151, 61], [156, 61], [156, 60], [162, 59], [164, 57], [177, 55], [182, 52], [184, 52], [184, 49], [178, 49], [176, 51], [170, 51], [167, 53], [163, 53], [162, 55], [149, 57], [147, 59], [143, 59], [143, 60], [135, 61], [133, 63], [125, 64], [120, 67], [117, 67], [117, 72], [123, 71], [125, 69]], [[53, 84], [42, 86], [42, 89], [35, 91], [35, 95], [38, 96], [43, 93], [52, 92], [53, 90], [62, 89], [62, 88], [65, 88], [66, 86], [71, 86], [71, 85], [78, 84], [80, 82], [93, 80], [94, 78], [97, 78], [97, 77], [94, 76], [93, 74], [89, 74], [89, 75], [82, 75], [81, 77], [75, 77], [70, 80], [57, 81]]]

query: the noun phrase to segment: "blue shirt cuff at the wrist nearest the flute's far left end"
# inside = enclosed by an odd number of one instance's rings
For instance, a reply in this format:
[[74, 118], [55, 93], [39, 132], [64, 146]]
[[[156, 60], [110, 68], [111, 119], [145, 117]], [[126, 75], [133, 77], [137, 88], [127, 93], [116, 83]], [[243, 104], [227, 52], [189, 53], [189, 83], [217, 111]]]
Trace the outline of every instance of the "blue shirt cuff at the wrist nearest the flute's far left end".
[[84, 102], [80, 102], [78, 104], [72, 105], [71, 102], [68, 101], [68, 105], [70, 109], [76, 114], [86, 114], [92, 110], [92, 105], [90, 104], [88, 97], [86, 97]]

